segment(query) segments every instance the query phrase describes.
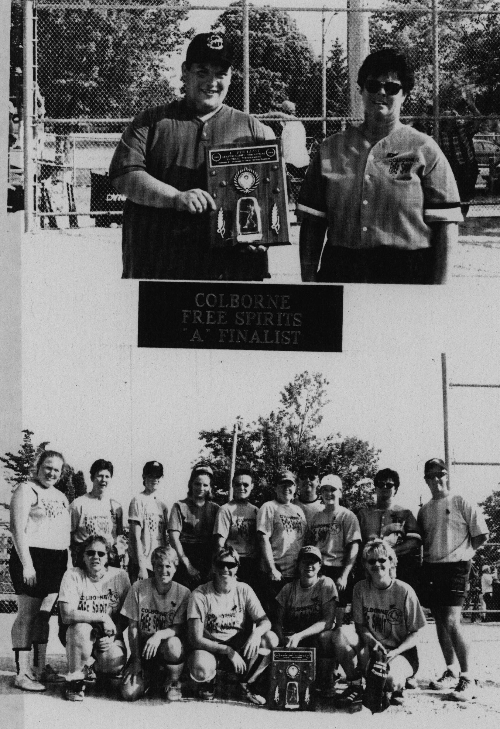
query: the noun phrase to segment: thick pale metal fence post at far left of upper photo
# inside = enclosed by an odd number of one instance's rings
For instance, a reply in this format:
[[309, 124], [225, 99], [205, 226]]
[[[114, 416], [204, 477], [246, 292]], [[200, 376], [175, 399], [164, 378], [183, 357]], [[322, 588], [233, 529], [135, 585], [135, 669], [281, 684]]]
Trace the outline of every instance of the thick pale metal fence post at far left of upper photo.
[[23, 157], [24, 157], [24, 230], [34, 222], [34, 82], [33, 82], [33, 1], [23, 2]]

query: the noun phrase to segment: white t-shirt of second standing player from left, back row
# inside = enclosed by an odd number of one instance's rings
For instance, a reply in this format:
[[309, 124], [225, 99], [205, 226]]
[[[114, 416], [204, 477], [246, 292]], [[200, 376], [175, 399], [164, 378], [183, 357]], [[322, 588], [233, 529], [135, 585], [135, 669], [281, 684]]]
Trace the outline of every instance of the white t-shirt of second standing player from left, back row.
[[100, 534], [109, 544], [117, 541], [117, 510], [120, 504], [113, 499], [93, 499], [90, 494], [79, 496], [69, 504], [71, 534], [74, 542], [82, 544], [87, 537]]

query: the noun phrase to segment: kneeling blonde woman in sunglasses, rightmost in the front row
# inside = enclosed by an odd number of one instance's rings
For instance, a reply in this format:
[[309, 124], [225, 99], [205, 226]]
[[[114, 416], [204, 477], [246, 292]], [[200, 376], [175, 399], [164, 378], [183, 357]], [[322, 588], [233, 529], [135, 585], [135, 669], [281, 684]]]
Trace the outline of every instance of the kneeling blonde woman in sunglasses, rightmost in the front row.
[[426, 619], [413, 588], [395, 579], [397, 556], [386, 542], [368, 542], [362, 566], [367, 579], [353, 590], [356, 635], [351, 636], [345, 628], [334, 634], [335, 654], [351, 683], [340, 701], [351, 704], [362, 697], [362, 674], [375, 649], [388, 661], [384, 690], [392, 693], [391, 703], [400, 703], [407, 679], [418, 671], [417, 644]]

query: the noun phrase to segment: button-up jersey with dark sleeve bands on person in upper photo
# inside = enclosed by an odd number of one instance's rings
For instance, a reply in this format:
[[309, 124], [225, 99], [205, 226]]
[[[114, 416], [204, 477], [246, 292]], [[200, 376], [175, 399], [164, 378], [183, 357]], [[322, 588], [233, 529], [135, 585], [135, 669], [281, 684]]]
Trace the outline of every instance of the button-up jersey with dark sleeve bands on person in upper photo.
[[373, 146], [357, 127], [325, 139], [297, 210], [327, 219], [327, 244], [350, 249], [429, 248], [429, 223], [463, 220], [448, 160], [431, 137], [407, 125]]

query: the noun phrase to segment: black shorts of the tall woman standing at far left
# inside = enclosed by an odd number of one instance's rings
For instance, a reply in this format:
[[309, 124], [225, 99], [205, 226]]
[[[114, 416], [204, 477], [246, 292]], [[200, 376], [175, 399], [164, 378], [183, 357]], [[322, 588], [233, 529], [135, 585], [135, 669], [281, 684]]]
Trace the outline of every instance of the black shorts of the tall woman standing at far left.
[[36, 585], [28, 587], [23, 580], [23, 564], [12, 547], [9, 559], [9, 572], [16, 595], [28, 595], [44, 599], [47, 595], [59, 592], [60, 582], [68, 566], [68, 550], [41, 549], [29, 547], [31, 561], [36, 572]]

